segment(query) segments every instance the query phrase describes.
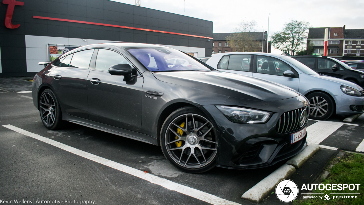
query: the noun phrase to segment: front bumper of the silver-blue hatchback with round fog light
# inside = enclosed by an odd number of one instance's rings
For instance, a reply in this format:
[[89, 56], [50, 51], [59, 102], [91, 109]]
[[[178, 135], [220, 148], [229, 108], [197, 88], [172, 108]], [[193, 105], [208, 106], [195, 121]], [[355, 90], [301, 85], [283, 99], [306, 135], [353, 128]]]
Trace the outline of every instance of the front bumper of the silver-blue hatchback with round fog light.
[[363, 113], [363, 109], [353, 111], [350, 109], [351, 105], [359, 105], [364, 107], [364, 96], [356, 97], [344, 94], [342, 96], [332, 96], [336, 103], [336, 115], [356, 115]]

